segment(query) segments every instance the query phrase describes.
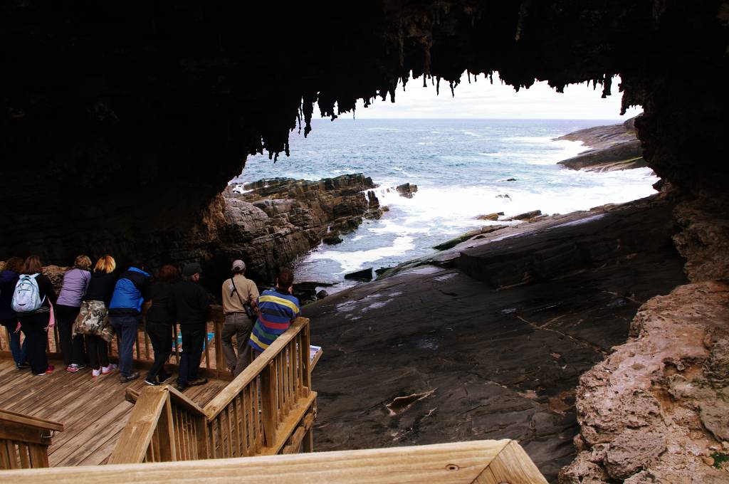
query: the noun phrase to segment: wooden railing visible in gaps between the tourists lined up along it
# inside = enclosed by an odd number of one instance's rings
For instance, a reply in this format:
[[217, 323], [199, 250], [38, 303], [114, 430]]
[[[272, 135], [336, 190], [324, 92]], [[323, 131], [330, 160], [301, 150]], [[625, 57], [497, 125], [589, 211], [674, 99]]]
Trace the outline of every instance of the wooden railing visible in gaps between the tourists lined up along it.
[[[221, 380], [232, 380], [233, 375], [227, 370], [225, 365], [225, 355], [222, 351], [222, 325], [224, 316], [220, 306], [213, 306], [211, 311], [211, 321], [208, 321], [206, 331], [205, 348], [203, 349], [203, 357], [200, 362], [200, 375], [219, 378]], [[174, 372], [179, 364], [179, 330], [176, 325], [173, 326], [173, 351], [168, 361], [168, 371]], [[208, 339], [208, 335], [212, 334], [212, 338]], [[0, 358], [10, 359], [10, 335], [7, 330], [3, 330], [0, 335]], [[109, 359], [112, 362], [119, 360], [120, 342], [114, 337], [109, 343]], [[46, 353], [49, 359], [61, 359], [61, 344], [58, 336], [58, 325], [52, 331], [48, 332], [48, 340], [46, 342]], [[140, 325], [137, 329], [136, 340], [133, 348], [134, 366], [139, 369], [148, 369], [155, 361], [155, 353], [152, 348], [152, 342], [149, 340], [144, 326]]]

